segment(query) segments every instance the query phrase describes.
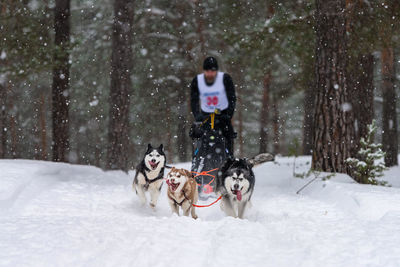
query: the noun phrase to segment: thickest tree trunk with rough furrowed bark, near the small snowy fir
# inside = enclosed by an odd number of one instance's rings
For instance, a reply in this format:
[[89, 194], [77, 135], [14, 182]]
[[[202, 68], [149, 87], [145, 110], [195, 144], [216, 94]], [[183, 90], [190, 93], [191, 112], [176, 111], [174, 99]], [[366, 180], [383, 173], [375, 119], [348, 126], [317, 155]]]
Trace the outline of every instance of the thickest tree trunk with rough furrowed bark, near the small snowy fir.
[[316, 101], [312, 168], [348, 172], [354, 135], [346, 84], [344, 0], [316, 1]]

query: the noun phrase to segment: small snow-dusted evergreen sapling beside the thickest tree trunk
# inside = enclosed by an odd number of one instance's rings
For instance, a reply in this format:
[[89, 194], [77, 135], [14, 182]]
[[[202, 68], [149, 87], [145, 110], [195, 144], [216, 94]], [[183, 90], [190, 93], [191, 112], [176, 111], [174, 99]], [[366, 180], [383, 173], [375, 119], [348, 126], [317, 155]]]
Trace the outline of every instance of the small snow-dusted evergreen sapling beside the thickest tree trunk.
[[382, 159], [385, 152], [382, 151], [381, 144], [374, 143], [376, 132], [375, 120], [367, 126], [367, 134], [360, 139], [360, 150], [357, 158], [348, 158], [346, 162], [352, 167], [352, 177], [361, 184], [385, 185], [386, 182], [376, 180], [383, 175], [385, 167]]

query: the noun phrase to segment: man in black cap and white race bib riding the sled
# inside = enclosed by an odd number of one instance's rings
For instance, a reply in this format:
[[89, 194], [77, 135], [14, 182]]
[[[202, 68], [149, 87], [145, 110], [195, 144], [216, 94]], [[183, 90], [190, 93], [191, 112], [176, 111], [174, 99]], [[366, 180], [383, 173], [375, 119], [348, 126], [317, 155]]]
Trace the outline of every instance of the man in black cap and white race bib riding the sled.
[[196, 122], [202, 122], [217, 111], [214, 127], [222, 131], [228, 153], [233, 156], [235, 132], [231, 119], [235, 111], [236, 95], [232, 78], [229, 74], [218, 71], [218, 62], [214, 57], [204, 60], [203, 70], [191, 84], [193, 116]]

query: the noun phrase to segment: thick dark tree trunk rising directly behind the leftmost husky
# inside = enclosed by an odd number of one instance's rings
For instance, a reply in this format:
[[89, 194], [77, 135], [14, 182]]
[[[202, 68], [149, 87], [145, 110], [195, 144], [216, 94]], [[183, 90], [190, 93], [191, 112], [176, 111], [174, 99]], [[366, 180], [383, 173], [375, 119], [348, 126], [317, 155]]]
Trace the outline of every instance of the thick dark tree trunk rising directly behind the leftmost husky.
[[133, 0], [114, 0], [107, 169], [128, 171]]

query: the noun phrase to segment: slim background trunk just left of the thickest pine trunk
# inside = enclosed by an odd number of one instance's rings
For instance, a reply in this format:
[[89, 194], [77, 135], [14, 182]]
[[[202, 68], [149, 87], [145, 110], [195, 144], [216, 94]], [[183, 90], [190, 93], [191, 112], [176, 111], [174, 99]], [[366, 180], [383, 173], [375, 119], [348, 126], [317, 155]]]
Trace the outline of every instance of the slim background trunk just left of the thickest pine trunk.
[[315, 110], [315, 81], [309, 82], [304, 92], [303, 155], [312, 155]]

